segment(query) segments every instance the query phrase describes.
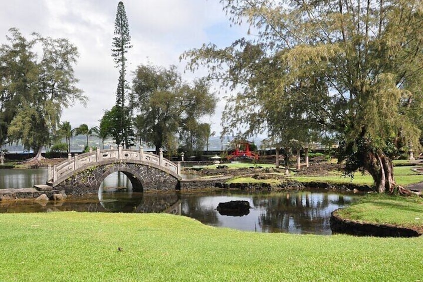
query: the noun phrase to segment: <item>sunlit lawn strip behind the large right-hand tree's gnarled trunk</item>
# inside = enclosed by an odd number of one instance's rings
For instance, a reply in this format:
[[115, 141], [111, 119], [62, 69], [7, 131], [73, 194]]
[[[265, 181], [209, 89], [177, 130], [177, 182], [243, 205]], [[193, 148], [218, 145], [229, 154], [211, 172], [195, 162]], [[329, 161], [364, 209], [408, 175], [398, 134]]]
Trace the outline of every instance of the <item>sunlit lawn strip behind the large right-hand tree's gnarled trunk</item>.
[[[418, 174], [412, 170], [412, 166], [394, 167], [394, 177], [398, 185], [407, 186], [414, 183], [423, 182], [423, 175]], [[334, 172], [327, 176], [292, 176], [300, 182], [327, 182], [335, 184], [353, 183], [358, 185], [373, 185], [373, 178], [370, 174], [363, 175], [361, 172], [356, 172], [354, 178], [343, 177], [341, 172]]]

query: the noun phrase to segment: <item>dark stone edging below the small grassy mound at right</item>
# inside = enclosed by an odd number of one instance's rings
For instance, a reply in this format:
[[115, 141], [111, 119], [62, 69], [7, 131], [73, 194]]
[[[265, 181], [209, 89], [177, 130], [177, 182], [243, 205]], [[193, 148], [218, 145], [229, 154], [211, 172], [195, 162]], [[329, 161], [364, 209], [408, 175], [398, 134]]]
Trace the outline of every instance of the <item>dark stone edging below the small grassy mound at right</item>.
[[350, 221], [337, 215], [337, 211], [338, 210], [332, 212], [330, 219], [331, 230], [334, 234], [374, 237], [419, 237], [422, 235], [411, 228], [389, 224], [371, 224]]

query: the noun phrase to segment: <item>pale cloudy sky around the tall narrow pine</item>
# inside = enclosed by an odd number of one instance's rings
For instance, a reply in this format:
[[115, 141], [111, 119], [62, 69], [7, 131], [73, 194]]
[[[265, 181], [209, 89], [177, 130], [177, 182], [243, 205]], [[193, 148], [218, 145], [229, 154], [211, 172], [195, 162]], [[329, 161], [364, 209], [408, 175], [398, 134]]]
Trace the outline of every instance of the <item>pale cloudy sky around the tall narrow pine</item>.
[[[78, 87], [89, 98], [84, 108], [75, 104], [65, 109], [62, 120], [72, 127], [81, 123], [98, 125], [104, 110], [115, 103], [118, 69], [111, 57], [117, 0], [0, 0], [0, 44], [10, 27], [17, 27], [29, 37], [35, 31], [43, 36], [68, 38], [78, 47], [75, 66]], [[192, 81], [206, 75], [205, 70], [183, 73], [185, 62], [179, 56], [185, 50], [213, 42], [219, 47], [245, 36], [247, 27], [230, 27], [218, 0], [125, 0], [133, 48], [128, 53], [127, 80], [139, 64], [178, 66], [183, 77]], [[216, 93], [218, 88], [214, 89]], [[219, 95], [220, 98], [220, 95]], [[206, 119], [212, 130], [220, 131], [219, 100], [214, 116]]]

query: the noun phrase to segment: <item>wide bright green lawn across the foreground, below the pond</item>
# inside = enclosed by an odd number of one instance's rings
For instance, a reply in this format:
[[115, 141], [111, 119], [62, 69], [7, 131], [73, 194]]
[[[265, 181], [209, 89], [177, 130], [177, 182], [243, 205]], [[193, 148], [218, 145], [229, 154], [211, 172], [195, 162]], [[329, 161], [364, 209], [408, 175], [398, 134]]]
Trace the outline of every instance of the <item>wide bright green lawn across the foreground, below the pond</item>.
[[166, 214], [1, 214], [0, 243], [2, 281], [423, 279], [423, 238], [250, 233]]

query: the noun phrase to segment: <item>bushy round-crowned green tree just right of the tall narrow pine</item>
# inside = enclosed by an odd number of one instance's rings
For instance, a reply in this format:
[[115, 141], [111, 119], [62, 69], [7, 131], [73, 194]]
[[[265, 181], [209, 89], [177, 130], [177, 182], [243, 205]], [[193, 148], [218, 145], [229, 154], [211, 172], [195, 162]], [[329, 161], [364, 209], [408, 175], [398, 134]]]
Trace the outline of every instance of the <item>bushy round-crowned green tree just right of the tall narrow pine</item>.
[[204, 79], [193, 85], [182, 81], [176, 66], [138, 66], [131, 105], [139, 113], [135, 118], [138, 137], [155, 146], [156, 153], [162, 147], [176, 152], [177, 133], [190, 150], [204, 146], [208, 125], [199, 120], [211, 115], [216, 104], [209, 87]]

